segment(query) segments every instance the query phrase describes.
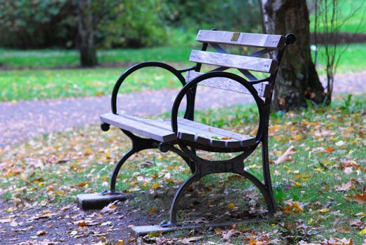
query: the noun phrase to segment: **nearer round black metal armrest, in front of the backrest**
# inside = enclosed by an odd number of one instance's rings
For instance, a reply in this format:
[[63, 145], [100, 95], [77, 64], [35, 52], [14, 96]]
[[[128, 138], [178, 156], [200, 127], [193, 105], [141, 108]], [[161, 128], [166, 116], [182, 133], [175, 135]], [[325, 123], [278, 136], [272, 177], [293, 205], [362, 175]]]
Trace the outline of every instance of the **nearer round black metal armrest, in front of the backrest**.
[[176, 96], [176, 99], [174, 100], [174, 104], [171, 108], [171, 129], [172, 131], [178, 136], [178, 109], [182, 102], [183, 97], [185, 94], [188, 93], [190, 89], [195, 87], [198, 83], [202, 82], [203, 80], [210, 79], [210, 78], [230, 78], [232, 80], [237, 81], [246, 89], [251, 92], [253, 98], [255, 99], [255, 103], [258, 106], [258, 112], [259, 112], [259, 125], [258, 125], [258, 132], [257, 136], [255, 137], [255, 142], [259, 143], [259, 141], [262, 139], [262, 135], [265, 132], [265, 108], [264, 108], [264, 102], [263, 100], [258, 96], [257, 90], [249, 83], [247, 80], [242, 78], [241, 76], [238, 76], [234, 73], [228, 73], [224, 71], [212, 71], [208, 73], [204, 73], [201, 76], [197, 76], [195, 79], [191, 80], [190, 83], [187, 83], [184, 85], [184, 87], [179, 91], [178, 95]]

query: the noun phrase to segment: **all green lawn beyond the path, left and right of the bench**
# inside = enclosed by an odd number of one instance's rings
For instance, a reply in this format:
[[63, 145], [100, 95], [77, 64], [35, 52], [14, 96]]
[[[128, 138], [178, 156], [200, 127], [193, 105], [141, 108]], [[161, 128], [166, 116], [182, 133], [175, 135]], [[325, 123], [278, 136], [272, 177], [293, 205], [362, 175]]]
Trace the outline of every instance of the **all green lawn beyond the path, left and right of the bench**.
[[[340, 48], [344, 48], [344, 45], [340, 46]], [[178, 50], [178, 55], [175, 55], [176, 50]], [[126, 55], [121, 55], [122, 52], [125, 52]], [[319, 52], [321, 54], [322, 49]], [[63, 58], [58, 59], [57, 53], [69, 55], [60, 56]], [[74, 58], [77, 58], [76, 52], [52, 50], [27, 51], [25, 52], [25, 55], [24, 51], [12, 51], [9, 52], [8, 58], [14, 58], [13, 61], [17, 62], [17, 65], [30, 66], [31, 64], [36, 64], [37, 61], [42, 60], [43, 57], [49, 57], [49, 64], [52, 64], [52, 62], [60, 62], [58, 63], [59, 65], [64, 65], [67, 64], [64, 63], [65, 60], [72, 57], [70, 55], [72, 53], [75, 55]], [[149, 59], [156, 59], [163, 62], [180, 62], [173, 64], [176, 68], [192, 65], [192, 63], [182, 62], [183, 60], [187, 61], [190, 54], [190, 49], [185, 48], [174, 48], [174, 50], [173, 48], [109, 50], [104, 51], [104, 54], [105, 60], [109, 61], [116, 61], [121, 57], [120, 61], [124, 62], [146, 61]], [[351, 44], [349, 50], [344, 53], [339, 62], [338, 72], [363, 71], [366, 67], [365, 56], [366, 45]], [[20, 61], [24, 63], [21, 63]], [[321, 74], [324, 73], [322, 70], [323, 64], [324, 59], [320, 55], [318, 71]], [[109, 95], [111, 94], [115, 81], [125, 69], [127, 68], [21, 69], [1, 71], [0, 101]], [[179, 84], [178, 80], [176, 80], [174, 76], [171, 76], [169, 72], [164, 72], [162, 69], [149, 68], [143, 69], [137, 72], [132, 78], [129, 78], [129, 81], [123, 85], [121, 92], [160, 89], [162, 87], [172, 88], [179, 87]]]

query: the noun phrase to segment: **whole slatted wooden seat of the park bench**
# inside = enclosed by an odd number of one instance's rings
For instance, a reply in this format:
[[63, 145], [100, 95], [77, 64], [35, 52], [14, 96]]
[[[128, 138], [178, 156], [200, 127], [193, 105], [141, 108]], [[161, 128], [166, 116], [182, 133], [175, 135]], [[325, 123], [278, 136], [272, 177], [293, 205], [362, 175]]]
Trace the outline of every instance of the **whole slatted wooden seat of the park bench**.
[[[100, 119], [108, 125], [162, 143], [177, 140], [176, 134], [171, 130], [171, 120], [149, 120], [127, 114], [116, 115], [113, 113], [103, 114]], [[255, 145], [255, 139], [248, 135], [237, 134], [184, 118], [178, 118], [178, 139], [215, 148], [241, 148]]]

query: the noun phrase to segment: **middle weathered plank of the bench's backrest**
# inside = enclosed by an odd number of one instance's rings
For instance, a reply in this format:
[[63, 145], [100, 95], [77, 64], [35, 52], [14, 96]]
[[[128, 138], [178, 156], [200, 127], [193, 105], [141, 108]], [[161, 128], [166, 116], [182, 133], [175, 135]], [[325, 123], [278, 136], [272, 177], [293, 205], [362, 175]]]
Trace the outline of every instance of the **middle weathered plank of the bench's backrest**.
[[220, 52], [200, 50], [192, 50], [192, 52], [190, 52], [190, 61], [266, 73], [274, 73], [278, 63], [274, 59], [228, 55]]

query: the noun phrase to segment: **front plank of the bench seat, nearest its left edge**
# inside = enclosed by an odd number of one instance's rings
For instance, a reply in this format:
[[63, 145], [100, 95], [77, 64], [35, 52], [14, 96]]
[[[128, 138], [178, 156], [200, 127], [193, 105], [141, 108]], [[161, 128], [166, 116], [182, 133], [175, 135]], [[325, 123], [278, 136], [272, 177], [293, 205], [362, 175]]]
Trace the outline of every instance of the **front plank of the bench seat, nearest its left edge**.
[[143, 137], [148, 137], [157, 141], [169, 142], [176, 140], [174, 132], [162, 130], [159, 127], [153, 127], [152, 125], [147, 125], [146, 123], [138, 122], [122, 115], [106, 113], [100, 116], [100, 120], [103, 123], [108, 123], [109, 125], [119, 127], [122, 130], [134, 132]]

